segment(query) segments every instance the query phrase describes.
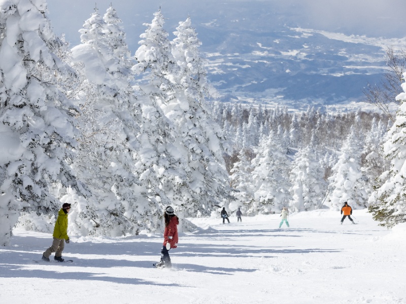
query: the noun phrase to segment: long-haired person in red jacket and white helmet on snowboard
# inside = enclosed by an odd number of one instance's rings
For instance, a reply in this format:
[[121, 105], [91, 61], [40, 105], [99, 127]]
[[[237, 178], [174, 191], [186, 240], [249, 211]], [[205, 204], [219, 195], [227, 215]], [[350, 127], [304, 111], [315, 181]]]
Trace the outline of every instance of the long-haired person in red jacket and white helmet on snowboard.
[[179, 217], [175, 215], [174, 208], [166, 207], [165, 213], [165, 231], [163, 232], [163, 246], [161, 249], [161, 260], [154, 264], [158, 268], [171, 268], [172, 262], [169, 256], [171, 248], [178, 247], [178, 224]]

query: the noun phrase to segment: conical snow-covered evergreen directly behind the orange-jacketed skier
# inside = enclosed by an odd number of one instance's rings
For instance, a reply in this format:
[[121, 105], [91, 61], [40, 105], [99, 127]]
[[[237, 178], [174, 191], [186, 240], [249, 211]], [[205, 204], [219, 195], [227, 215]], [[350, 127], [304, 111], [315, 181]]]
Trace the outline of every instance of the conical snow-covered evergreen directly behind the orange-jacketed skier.
[[339, 160], [332, 168], [333, 175], [329, 178], [332, 189], [330, 207], [334, 210], [340, 210], [344, 202], [348, 202], [353, 209], [367, 206], [368, 198], [363, 187], [365, 177], [361, 172], [361, 151], [362, 140], [351, 127]]

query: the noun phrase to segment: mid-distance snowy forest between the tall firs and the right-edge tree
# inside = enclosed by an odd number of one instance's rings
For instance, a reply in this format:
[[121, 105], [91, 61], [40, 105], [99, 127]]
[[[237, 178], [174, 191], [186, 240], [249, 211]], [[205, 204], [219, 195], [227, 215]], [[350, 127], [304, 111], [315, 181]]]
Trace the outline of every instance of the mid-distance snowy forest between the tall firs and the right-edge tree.
[[389, 169], [382, 144], [391, 121], [379, 112], [221, 103], [213, 103], [212, 111], [226, 138], [231, 210], [338, 209], [344, 201], [365, 208]]

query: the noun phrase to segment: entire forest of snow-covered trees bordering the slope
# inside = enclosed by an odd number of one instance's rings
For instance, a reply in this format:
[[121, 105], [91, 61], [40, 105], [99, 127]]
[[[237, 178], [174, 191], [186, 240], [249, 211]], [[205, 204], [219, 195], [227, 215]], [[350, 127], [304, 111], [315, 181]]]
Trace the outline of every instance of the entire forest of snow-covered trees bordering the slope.
[[82, 236], [160, 231], [167, 205], [184, 219], [348, 201], [388, 227], [405, 220], [403, 104], [391, 124], [219, 103], [190, 17], [171, 41], [156, 12], [137, 50], [120, 24], [95, 10], [70, 46], [45, 0], [0, 0], [1, 245], [15, 225], [52, 232], [65, 202]]

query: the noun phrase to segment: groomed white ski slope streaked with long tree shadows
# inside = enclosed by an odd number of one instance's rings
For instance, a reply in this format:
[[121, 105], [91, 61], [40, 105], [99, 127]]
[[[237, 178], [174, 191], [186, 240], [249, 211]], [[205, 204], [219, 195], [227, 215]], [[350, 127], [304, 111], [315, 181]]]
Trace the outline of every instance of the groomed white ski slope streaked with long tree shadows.
[[[406, 223], [392, 231], [366, 210], [191, 219], [155, 269], [162, 236], [74, 238], [63, 257], [35, 263], [50, 234], [14, 231], [0, 249], [0, 303], [406, 303]], [[52, 258], [52, 256], [51, 256]]]

